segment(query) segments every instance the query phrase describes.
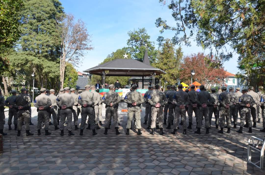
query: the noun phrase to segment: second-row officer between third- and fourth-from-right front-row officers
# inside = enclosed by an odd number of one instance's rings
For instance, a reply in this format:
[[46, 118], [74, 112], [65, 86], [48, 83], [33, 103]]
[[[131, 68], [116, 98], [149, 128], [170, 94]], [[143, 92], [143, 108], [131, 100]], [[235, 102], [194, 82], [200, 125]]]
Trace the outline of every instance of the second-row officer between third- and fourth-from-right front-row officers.
[[215, 88], [211, 88], [211, 97], [213, 98], [213, 103], [211, 103], [209, 105], [209, 125], [211, 128], [211, 121], [212, 121], [212, 117], [213, 117], [213, 113], [214, 113], [214, 118], [215, 118], [215, 128], [218, 129], [218, 125], [219, 125], [219, 110], [218, 110], [218, 106], [219, 106], [219, 102], [218, 102], [218, 95], [215, 93], [216, 89]]

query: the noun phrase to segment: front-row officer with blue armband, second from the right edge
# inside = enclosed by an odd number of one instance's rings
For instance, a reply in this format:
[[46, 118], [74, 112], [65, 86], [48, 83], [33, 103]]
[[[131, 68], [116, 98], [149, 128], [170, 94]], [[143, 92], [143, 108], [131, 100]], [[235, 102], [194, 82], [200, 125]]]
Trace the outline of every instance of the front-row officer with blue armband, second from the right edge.
[[255, 101], [253, 100], [252, 96], [247, 94], [248, 89], [242, 89], [243, 95], [239, 97], [238, 105], [240, 106], [240, 129], [236, 132], [243, 133], [243, 126], [246, 118], [248, 118], [247, 124], [249, 126], [249, 133], [252, 133], [252, 122], [250, 118], [251, 107], [255, 105]]

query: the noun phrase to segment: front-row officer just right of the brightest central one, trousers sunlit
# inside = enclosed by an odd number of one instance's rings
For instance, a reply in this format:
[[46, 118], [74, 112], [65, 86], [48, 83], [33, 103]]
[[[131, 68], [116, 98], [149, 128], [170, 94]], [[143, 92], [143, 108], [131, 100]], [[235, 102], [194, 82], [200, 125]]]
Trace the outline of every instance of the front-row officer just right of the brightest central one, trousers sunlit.
[[156, 128], [156, 119], [158, 117], [160, 135], [163, 135], [163, 106], [167, 103], [166, 95], [159, 90], [160, 86], [158, 84], [155, 85], [156, 90], [154, 90], [148, 96], [148, 103], [151, 104], [151, 129], [152, 132], [150, 134], [154, 135], [154, 129]]

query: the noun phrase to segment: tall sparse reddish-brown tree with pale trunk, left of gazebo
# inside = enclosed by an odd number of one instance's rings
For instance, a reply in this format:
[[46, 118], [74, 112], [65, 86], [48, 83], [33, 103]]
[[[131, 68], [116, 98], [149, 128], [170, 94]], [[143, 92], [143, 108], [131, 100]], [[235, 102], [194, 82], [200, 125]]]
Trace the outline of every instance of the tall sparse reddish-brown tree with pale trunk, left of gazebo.
[[84, 52], [92, 50], [91, 35], [88, 34], [85, 23], [78, 19], [74, 21], [73, 15], [62, 17], [58, 30], [60, 33], [60, 88], [64, 85], [64, 72], [68, 63], [77, 66], [82, 61]]

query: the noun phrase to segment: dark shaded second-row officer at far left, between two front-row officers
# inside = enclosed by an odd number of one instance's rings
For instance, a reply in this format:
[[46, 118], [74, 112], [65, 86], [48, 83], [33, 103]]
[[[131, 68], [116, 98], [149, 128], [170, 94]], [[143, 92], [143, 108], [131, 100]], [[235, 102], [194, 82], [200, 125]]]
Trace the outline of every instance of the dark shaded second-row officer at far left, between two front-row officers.
[[5, 101], [5, 105], [8, 106], [8, 130], [12, 130], [11, 124], [12, 124], [12, 118], [14, 116], [14, 125], [15, 130], [17, 130], [17, 110], [14, 108], [14, 102], [16, 101], [16, 90], [11, 91], [12, 96], [8, 97]]

